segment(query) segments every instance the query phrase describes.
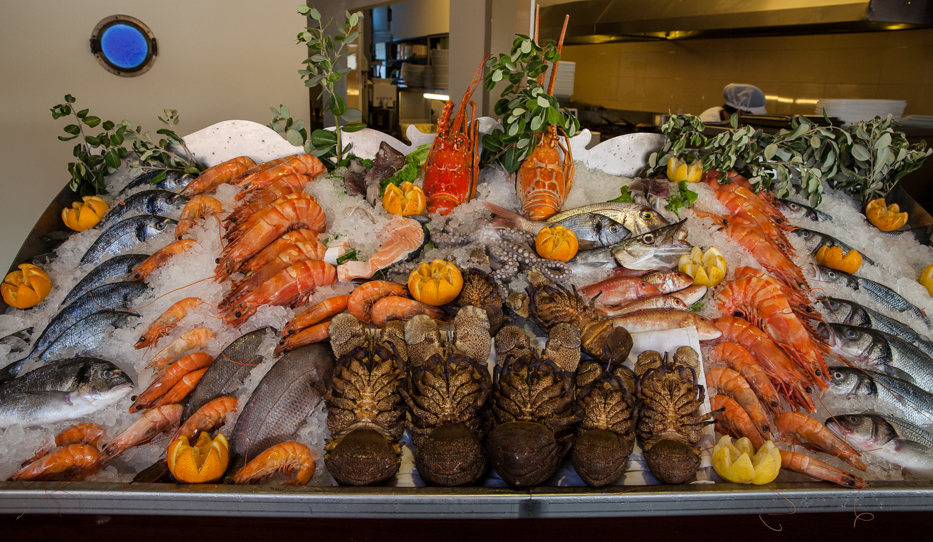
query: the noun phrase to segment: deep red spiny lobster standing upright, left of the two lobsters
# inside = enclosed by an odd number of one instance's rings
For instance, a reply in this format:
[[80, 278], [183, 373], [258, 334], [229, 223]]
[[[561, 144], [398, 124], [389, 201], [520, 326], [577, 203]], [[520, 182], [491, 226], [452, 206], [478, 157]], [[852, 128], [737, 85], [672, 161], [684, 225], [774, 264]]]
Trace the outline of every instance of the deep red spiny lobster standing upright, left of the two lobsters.
[[[480, 122], [476, 120], [476, 103], [470, 101], [473, 91], [482, 80], [483, 56], [480, 67], [473, 75], [457, 115], [450, 125], [453, 102], [444, 105], [438, 119], [438, 135], [431, 145], [425, 161], [425, 196], [427, 210], [447, 214], [454, 207], [476, 196], [476, 183], [480, 174]], [[466, 122], [466, 104], [472, 106], [472, 117]]]

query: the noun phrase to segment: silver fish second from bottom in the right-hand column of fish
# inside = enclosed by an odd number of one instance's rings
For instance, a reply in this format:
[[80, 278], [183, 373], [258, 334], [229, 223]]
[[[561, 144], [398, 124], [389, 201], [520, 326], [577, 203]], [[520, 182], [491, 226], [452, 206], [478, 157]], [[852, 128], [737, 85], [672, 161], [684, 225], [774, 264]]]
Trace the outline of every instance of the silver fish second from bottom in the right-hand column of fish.
[[837, 397], [870, 400], [876, 403], [876, 412], [898, 408], [912, 424], [933, 425], [933, 394], [887, 374], [855, 367], [830, 367], [827, 392]]

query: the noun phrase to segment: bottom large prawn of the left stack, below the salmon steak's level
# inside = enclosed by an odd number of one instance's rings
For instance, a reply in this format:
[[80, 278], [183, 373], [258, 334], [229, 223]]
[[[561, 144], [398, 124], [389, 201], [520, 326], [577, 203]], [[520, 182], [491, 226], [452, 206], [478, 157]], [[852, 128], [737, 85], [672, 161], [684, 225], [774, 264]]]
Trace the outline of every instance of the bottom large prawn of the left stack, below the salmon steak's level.
[[239, 326], [256, 313], [260, 305], [298, 306], [321, 286], [337, 282], [337, 269], [321, 260], [289, 265], [258, 288], [248, 291], [226, 308], [224, 320]]

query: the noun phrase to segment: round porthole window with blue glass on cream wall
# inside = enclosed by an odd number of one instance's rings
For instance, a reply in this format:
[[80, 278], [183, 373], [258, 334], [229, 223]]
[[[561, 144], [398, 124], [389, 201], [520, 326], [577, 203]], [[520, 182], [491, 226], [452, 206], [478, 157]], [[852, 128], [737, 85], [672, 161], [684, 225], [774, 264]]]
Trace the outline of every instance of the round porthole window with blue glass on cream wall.
[[156, 37], [149, 27], [129, 15], [112, 15], [97, 23], [91, 52], [104, 70], [123, 77], [145, 74], [156, 61]]

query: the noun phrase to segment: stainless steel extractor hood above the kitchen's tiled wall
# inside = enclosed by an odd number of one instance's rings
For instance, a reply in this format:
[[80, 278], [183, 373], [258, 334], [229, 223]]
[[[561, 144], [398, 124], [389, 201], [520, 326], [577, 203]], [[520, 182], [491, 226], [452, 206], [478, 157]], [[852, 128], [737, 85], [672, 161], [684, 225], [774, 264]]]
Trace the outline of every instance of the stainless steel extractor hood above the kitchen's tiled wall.
[[542, 36], [565, 43], [830, 34], [933, 26], [933, 0], [582, 0], [541, 7]]

